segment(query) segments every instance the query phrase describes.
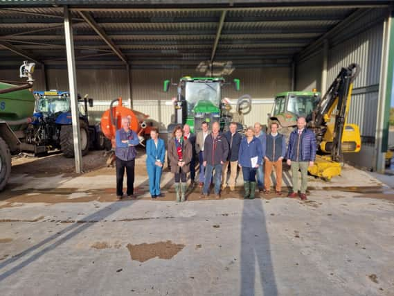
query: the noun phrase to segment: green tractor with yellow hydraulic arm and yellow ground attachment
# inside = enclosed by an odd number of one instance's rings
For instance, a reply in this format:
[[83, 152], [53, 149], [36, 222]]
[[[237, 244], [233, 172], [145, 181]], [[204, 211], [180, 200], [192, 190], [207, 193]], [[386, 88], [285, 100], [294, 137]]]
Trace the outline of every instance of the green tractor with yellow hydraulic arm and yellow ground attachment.
[[308, 169], [311, 175], [330, 180], [341, 174], [343, 153], [361, 150], [358, 125], [346, 122], [353, 81], [358, 73], [357, 64], [342, 68], [323, 98], [315, 91], [276, 96], [274, 112], [269, 114], [268, 123], [277, 122], [281, 132], [287, 135], [296, 128], [297, 116], [305, 116], [307, 127], [316, 134], [318, 155], [314, 166]]

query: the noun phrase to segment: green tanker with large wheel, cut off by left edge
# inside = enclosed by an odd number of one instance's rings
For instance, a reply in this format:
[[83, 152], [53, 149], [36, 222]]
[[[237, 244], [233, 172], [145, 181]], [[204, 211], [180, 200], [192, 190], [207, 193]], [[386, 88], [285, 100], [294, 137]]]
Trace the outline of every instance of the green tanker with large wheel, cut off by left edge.
[[30, 92], [33, 86], [35, 64], [24, 62], [20, 77], [28, 78], [26, 83], [0, 82], [0, 191], [6, 186], [11, 173], [11, 155], [21, 153], [24, 128], [33, 114], [35, 97]]

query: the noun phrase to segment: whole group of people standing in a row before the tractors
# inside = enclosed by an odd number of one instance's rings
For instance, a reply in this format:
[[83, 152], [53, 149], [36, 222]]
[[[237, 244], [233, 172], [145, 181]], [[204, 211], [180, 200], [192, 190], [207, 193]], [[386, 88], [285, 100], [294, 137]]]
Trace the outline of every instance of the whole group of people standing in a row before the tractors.
[[[165, 143], [159, 138], [159, 132], [152, 129], [146, 143], [146, 167], [149, 177], [150, 195], [161, 197], [160, 180], [165, 160]], [[122, 128], [116, 132], [116, 195], [123, 198], [123, 175], [127, 173], [127, 195], [134, 197], [134, 159], [138, 145], [136, 132], [129, 129], [129, 119], [122, 119]], [[195, 183], [196, 161], [199, 162], [198, 183], [202, 188], [201, 198], [209, 194], [211, 183], [214, 184], [215, 198], [229, 186], [235, 190], [238, 168], [244, 179], [244, 198], [255, 198], [256, 185], [262, 193], [269, 194], [271, 173], [276, 171], [277, 195], [282, 195], [283, 159], [292, 171], [292, 192], [290, 198], [300, 197], [306, 200], [307, 168], [314, 165], [316, 157], [316, 139], [314, 133], [306, 128], [305, 117], [297, 119], [297, 128], [286, 139], [278, 132], [278, 123], [273, 122], [269, 132], [262, 131], [262, 125], [255, 123], [254, 128], [247, 128], [244, 137], [237, 132], [237, 123], [232, 122], [227, 132], [220, 132], [220, 124], [213, 122], [211, 130], [207, 122], [197, 134], [190, 132], [189, 125], [178, 125], [168, 141], [168, 160], [170, 171], [174, 174], [174, 189], [177, 202], [186, 200], [187, 174], [191, 184]], [[301, 171], [301, 187], [298, 171]], [[298, 193], [299, 191], [299, 193]]]

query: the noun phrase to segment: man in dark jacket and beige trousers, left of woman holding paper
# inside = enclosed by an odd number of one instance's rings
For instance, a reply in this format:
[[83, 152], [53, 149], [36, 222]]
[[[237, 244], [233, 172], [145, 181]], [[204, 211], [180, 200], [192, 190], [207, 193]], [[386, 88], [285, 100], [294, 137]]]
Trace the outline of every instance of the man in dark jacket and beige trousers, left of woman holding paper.
[[230, 170], [229, 186], [230, 190], [234, 191], [235, 179], [238, 171], [238, 151], [240, 150], [242, 136], [237, 132], [237, 123], [230, 123], [229, 129], [229, 131], [224, 133], [224, 137], [226, 137], [226, 140], [229, 143], [229, 155], [223, 165], [222, 189], [225, 189], [227, 186], [227, 177], [229, 176]]

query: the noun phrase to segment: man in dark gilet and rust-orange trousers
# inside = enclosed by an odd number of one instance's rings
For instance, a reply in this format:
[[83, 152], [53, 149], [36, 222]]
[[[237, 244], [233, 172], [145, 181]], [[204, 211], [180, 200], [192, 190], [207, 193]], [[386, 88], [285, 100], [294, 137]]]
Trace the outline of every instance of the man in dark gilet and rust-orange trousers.
[[264, 193], [269, 193], [272, 168], [276, 171], [276, 194], [282, 195], [282, 160], [286, 156], [286, 139], [278, 132], [278, 123], [271, 123], [271, 132], [267, 134], [265, 145]]

